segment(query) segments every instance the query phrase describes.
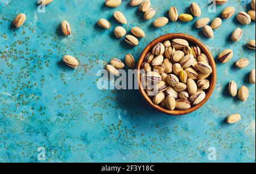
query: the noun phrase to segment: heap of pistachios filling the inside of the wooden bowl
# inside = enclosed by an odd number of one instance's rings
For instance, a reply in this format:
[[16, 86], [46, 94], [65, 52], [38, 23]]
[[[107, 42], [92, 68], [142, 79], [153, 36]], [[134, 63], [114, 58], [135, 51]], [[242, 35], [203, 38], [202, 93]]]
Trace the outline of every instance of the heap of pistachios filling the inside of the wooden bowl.
[[[184, 39], [156, 44], [144, 58], [142, 85], [155, 105], [187, 110], [205, 98], [212, 73], [208, 57]], [[143, 80], [144, 79], [144, 80]]]

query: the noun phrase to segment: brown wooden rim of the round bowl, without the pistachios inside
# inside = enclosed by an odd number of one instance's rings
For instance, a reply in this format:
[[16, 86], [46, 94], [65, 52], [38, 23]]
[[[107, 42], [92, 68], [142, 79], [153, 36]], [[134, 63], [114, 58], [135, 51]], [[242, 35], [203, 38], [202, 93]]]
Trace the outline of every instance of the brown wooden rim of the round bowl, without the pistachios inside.
[[[151, 49], [154, 47], [154, 45], [156, 45], [157, 43], [159, 43], [159, 42], [163, 43], [166, 40], [172, 40], [172, 39], [176, 39], [176, 38], [185, 39], [191, 45], [198, 45], [200, 47], [201, 51], [204, 52], [205, 55], [207, 55], [207, 57], [209, 59], [209, 64], [212, 67], [212, 74], [208, 77], [208, 79], [210, 81], [210, 87], [207, 91], [205, 91], [205, 94], [206, 94], [205, 99], [201, 103], [199, 103], [198, 105], [193, 105], [191, 108], [189, 108], [187, 110], [167, 110], [167, 109], [164, 109], [163, 107], [161, 107], [159, 105], [155, 105], [151, 101], [150, 97], [147, 96], [147, 93], [143, 89], [143, 86], [142, 86], [142, 83], [141, 83], [140, 69], [141, 69], [141, 65], [144, 61], [144, 57], [147, 55], [147, 53], [150, 52]], [[141, 56], [139, 57], [139, 60], [138, 60], [138, 63], [137, 63], [137, 69], [138, 69], [139, 91], [141, 92], [144, 100], [146, 100], [155, 109], [161, 111], [162, 113], [166, 113], [166, 114], [170, 114], [170, 115], [185, 115], [185, 114], [192, 113], [193, 111], [199, 109], [201, 106], [203, 106], [205, 104], [205, 102], [208, 101], [208, 99], [212, 95], [213, 90], [214, 90], [215, 85], [216, 85], [216, 64], [215, 64], [215, 61], [213, 59], [212, 54], [210, 53], [208, 48], [203, 43], [201, 43], [196, 38], [193, 38], [192, 36], [189, 36], [189, 35], [186, 35], [186, 34], [167, 34], [167, 35], [160, 36], [159, 38], [156, 38], [155, 40], [153, 40], [150, 44], [147, 45], [147, 47], [141, 53]]]

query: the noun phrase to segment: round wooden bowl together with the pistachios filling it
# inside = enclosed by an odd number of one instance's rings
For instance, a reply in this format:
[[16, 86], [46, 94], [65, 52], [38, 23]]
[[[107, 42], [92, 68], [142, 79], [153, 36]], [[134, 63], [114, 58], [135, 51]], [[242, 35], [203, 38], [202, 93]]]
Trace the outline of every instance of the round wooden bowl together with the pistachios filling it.
[[216, 85], [216, 64], [209, 49], [186, 34], [167, 34], [141, 53], [139, 91], [155, 109], [185, 115], [203, 106]]

